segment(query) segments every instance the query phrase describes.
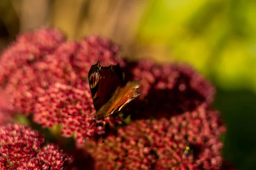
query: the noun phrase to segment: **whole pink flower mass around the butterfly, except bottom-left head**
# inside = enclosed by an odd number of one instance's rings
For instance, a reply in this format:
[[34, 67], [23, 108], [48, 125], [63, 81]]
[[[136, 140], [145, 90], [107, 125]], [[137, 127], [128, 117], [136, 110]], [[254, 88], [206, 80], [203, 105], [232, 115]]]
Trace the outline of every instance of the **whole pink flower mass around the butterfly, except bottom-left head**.
[[[20, 113], [45, 128], [57, 125], [62, 136], [74, 137], [85, 157], [92, 157], [87, 163], [96, 169], [220, 169], [225, 127], [220, 113], [211, 109], [215, 88], [187, 65], [128, 62], [118, 52], [118, 46], [99, 36], [67, 42], [55, 29], [21, 34], [0, 57], [0, 102], [5, 101], [0, 116]], [[87, 76], [98, 61], [119, 63], [126, 81], [142, 79], [141, 95], [122, 109], [122, 119], [114, 114], [104, 120], [107, 126], [99, 122], [105, 145], [97, 135], [88, 138], [99, 134], [96, 125], [88, 129], [92, 119], [87, 118], [95, 115]], [[131, 123], [122, 124], [127, 116]], [[15, 146], [10, 154], [17, 153]], [[56, 150], [55, 145], [44, 148], [37, 154]]]

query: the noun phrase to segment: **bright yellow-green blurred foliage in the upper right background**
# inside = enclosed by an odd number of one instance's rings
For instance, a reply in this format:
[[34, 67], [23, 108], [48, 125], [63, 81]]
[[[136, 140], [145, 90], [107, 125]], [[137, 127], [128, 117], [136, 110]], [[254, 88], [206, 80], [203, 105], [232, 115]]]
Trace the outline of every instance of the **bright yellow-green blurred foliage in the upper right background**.
[[[256, 1], [152, 0], [139, 40], [163, 44], [226, 89], [255, 89]], [[244, 83], [246, 82], [246, 83]]]

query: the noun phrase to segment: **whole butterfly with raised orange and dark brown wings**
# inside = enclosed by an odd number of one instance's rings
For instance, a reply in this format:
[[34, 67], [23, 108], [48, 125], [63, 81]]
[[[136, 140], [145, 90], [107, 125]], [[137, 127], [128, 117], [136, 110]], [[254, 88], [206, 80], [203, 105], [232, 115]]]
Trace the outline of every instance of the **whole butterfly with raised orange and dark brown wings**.
[[102, 67], [99, 62], [92, 65], [88, 73], [93, 105], [96, 110], [94, 122], [120, 111], [140, 94], [140, 80], [129, 81], [124, 85], [119, 65]]

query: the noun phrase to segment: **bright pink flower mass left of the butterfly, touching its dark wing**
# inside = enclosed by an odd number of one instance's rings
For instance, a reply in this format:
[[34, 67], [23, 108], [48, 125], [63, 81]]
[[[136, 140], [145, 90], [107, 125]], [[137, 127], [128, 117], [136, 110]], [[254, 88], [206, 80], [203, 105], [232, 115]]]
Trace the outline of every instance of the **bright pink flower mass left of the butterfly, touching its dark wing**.
[[[9, 101], [1, 108], [9, 108], [9, 113], [32, 114], [43, 127], [60, 125], [65, 137], [74, 135], [77, 144], [83, 144], [87, 135], [99, 133], [96, 125], [86, 134], [91, 119], [67, 113], [94, 117], [88, 71], [97, 61], [105, 66], [122, 63], [116, 56], [118, 49], [99, 36], [65, 42], [55, 29], [21, 34], [0, 58], [1, 96]], [[116, 121], [120, 122], [113, 123]]]

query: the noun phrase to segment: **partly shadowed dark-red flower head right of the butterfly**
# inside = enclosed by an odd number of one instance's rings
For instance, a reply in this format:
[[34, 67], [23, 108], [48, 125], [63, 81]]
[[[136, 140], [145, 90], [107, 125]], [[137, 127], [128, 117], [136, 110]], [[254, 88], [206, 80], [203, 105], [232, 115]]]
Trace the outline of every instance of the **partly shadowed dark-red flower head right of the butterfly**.
[[179, 114], [213, 100], [215, 88], [187, 65], [157, 65], [152, 60], [143, 59], [125, 67], [129, 77], [142, 79], [138, 90], [140, 101], [137, 100], [136, 107], [133, 105], [130, 109], [136, 114], [140, 112], [138, 117]]

